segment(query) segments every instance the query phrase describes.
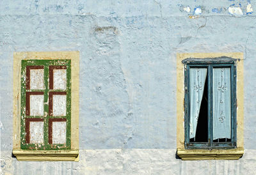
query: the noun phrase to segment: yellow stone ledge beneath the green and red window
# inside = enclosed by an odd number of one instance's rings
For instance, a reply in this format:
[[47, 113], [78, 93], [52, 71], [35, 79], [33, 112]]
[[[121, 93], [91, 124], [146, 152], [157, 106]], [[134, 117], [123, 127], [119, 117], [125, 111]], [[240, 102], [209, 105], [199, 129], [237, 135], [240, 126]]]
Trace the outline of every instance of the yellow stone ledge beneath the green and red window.
[[78, 150], [60, 150], [60, 151], [37, 151], [13, 149], [13, 155], [17, 160], [24, 161], [78, 161]]

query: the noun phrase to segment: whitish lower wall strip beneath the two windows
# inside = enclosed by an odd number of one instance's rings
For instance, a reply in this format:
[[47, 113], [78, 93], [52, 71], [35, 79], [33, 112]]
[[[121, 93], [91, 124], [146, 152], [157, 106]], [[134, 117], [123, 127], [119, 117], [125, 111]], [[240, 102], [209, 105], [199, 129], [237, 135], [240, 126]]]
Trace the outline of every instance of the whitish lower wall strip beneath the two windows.
[[[175, 158], [175, 149], [81, 149], [79, 162], [18, 162], [4, 159], [5, 174], [255, 174], [256, 151], [240, 160]], [[2, 153], [3, 155], [5, 153]], [[4, 157], [4, 156], [3, 156]]]

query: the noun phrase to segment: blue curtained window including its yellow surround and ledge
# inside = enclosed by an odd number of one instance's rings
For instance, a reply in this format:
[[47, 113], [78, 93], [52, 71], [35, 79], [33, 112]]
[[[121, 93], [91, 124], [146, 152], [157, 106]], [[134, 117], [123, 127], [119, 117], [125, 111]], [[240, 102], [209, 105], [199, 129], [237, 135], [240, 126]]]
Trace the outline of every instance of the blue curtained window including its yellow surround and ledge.
[[177, 54], [177, 155], [243, 155], [243, 53]]

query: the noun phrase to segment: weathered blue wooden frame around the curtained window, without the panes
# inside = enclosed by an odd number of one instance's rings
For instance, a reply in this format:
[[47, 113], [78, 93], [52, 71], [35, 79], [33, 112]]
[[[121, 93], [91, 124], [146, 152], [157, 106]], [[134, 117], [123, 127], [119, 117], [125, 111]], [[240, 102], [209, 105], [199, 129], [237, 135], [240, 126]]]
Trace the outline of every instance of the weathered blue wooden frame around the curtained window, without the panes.
[[[188, 63], [189, 62], [189, 63]], [[209, 61], [191, 60], [184, 61], [184, 112], [185, 112], [185, 149], [232, 149], [236, 148], [236, 60]], [[189, 68], [207, 68], [208, 80], [208, 142], [189, 142], [190, 100], [189, 100]], [[230, 68], [230, 132], [231, 142], [213, 142], [212, 140], [212, 72], [213, 68]]]

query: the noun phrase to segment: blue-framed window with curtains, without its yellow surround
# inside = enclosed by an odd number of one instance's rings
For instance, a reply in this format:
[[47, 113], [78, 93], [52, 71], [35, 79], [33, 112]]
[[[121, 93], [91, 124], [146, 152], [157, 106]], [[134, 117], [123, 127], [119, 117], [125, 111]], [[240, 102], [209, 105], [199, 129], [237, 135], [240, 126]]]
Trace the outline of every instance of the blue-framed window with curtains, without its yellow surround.
[[183, 63], [185, 148], [235, 148], [236, 59], [186, 59]]

